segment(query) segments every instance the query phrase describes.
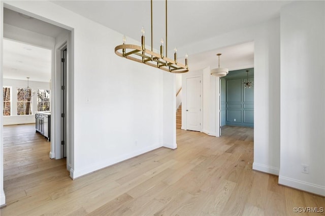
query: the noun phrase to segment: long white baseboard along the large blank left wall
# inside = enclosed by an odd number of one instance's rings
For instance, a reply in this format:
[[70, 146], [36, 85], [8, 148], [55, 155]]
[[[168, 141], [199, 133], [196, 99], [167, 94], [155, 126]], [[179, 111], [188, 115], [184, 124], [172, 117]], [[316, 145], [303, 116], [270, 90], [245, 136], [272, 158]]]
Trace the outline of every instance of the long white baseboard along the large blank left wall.
[[70, 177], [72, 179], [75, 179], [75, 178], [81, 177], [83, 175], [89, 174], [91, 172], [94, 172], [96, 170], [103, 169], [105, 167], [114, 165], [114, 164], [119, 163], [121, 161], [124, 161], [124, 160], [130, 159], [130, 158], [142, 155], [144, 153], [150, 152], [152, 150], [158, 149], [160, 147], [163, 147], [163, 146], [154, 145], [154, 146], [146, 147], [146, 148], [143, 148], [141, 150], [135, 151], [133, 153], [120, 155], [120, 156], [117, 156], [115, 158], [109, 158], [108, 160], [102, 161], [100, 163], [90, 164], [89, 166], [83, 167], [82, 169], [79, 169], [79, 170], [78, 169], [77, 170], [70, 169]]

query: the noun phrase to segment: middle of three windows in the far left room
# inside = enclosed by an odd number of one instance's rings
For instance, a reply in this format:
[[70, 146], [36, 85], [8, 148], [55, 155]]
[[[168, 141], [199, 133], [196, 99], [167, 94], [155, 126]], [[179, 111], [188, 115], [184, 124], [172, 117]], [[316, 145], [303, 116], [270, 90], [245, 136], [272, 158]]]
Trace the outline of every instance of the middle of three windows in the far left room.
[[31, 115], [31, 90], [17, 88], [17, 115]]

